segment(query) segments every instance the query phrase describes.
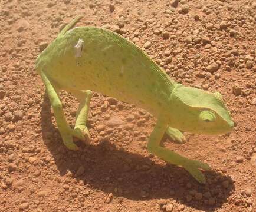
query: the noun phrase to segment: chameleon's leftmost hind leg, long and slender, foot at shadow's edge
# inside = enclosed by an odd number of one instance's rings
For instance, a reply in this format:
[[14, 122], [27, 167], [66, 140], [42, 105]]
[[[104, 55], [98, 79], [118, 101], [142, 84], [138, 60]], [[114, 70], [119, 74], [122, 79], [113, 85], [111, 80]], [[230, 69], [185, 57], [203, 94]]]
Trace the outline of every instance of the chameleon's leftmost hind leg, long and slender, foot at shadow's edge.
[[48, 79], [44, 72], [40, 72], [40, 76], [44, 82], [46, 92], [50, 99], [58, 131], [60, 131], [63, 143], [70, 150], [78, 150], [77, 145], [73, 142], [73, 137], [77, 137], [81, 140], [83, 140], [83, 137], [81, 137], [76, 130], [71, 129], [67, 123], [67, 120], [65, 119], [63, 107], [61, 105], [60, 98], [58, 97], [59, 88]]

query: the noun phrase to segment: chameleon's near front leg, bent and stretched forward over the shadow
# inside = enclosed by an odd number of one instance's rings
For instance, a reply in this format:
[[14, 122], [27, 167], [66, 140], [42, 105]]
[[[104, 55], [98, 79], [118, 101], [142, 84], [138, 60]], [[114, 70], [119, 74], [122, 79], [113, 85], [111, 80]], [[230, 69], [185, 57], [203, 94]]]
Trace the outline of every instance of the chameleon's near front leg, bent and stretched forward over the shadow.
[[180, 165], [187, 170], [199, 183], [205, 183], [204, 174], [198, 169], [211, 170], [209, 165], [202, 163], [197, 160], [189, 160], [174, 151], [167, 150], [166, 148], [160, 147], [160, 141], [165, 133], [168, 121], [163, 118], [157, 120], [156, 126], [149, 137], [147, 149], [150, 153], [157, 155], [168, 163]]

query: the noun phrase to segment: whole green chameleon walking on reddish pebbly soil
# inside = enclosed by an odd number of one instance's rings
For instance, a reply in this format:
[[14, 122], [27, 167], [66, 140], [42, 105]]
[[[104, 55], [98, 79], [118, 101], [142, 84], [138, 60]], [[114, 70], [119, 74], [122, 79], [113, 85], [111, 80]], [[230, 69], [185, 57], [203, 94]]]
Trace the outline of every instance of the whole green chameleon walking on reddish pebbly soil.
[[[160, 141], [166, 133], [172, 140], [183, 142], [180, 130], [198, 134], [231, 131], [234, 122], [221, 94], [174, 82], [142, 49], [108, 29], [71, 29], [81, 18], [67, 24], [36, 60], [36, 71], [44, 81], [66, 147], [78, 150], [73, 137], [90, 143], [86, 121], [93, 90], [154, 115], [157, 122], [147, 144], [150, 153], [182, 166], [199, 183], [205, 183], [199, 169], [211, 170], [209, 165], [163, 148]], [[74, 129], [65, 120], [60, 90], [71, 92], [80, 102]]]

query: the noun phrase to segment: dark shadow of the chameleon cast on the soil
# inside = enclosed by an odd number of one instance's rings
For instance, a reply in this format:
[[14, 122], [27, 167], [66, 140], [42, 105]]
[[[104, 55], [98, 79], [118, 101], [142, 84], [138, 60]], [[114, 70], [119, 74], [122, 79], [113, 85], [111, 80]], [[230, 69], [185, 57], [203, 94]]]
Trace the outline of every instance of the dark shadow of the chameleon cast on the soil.
[[[118, 150], [109, 142], [90, 146], [80, 143], [81, 150], [70, 151], [63, 145], [51, 117], [51, 105], [45, 94], [41, 110], [43, 141], [54, 157], [60, 175], [82, 181], [84, 189], [89, 186], [106, 194], [113, 193], [114, 198], [176, 200], [203, 211], [221, 208], [235, 189], [229, 176], [204, 172], [208, 183], [200, 185], [183, 168], [156, 164], [140, 154]], [[224, 181], [229, 182], [228, 187]], [[204, 195], [196, 200], [198, 193]]]

